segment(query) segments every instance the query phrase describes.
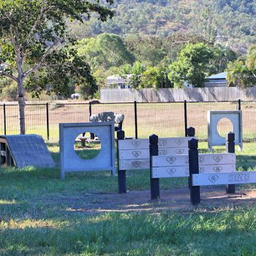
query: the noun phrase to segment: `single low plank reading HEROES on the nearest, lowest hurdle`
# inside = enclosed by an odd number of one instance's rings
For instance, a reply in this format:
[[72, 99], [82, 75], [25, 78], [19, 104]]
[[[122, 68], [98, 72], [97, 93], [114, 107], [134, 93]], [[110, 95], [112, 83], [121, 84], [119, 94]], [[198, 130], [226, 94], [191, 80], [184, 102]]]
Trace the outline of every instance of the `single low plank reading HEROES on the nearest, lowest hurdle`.
[[192, 175], [192, 186], [256, 183], [256, 171], [236, 173], [200, 173]]

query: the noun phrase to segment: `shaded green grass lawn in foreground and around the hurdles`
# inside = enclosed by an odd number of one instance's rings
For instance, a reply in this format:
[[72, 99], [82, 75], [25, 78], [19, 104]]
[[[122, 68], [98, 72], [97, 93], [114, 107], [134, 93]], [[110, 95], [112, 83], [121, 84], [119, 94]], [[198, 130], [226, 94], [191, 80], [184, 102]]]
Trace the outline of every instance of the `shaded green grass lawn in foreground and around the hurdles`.
[[[59, 146], [48, 143], [48, 148], [59, 164]], [[205, 153], [206, 143], [200, 148]], [[256, 143], [245, 143], [238, 170], [256, 170], [255, 148]], [[0, 255], [256, 255], [255, 206], [155, 207], [149, 212], [110, 208], [90, 214], [80, 208], [115, 195], [117, 178], [108, 172], [59, 177], [59, 166], [1, 168]], [[187, 178], [162, 179], [160, 185], [162, 190], [187, 187]], [[128, 171], [127, 189], [149, 189], [148, 171]]]

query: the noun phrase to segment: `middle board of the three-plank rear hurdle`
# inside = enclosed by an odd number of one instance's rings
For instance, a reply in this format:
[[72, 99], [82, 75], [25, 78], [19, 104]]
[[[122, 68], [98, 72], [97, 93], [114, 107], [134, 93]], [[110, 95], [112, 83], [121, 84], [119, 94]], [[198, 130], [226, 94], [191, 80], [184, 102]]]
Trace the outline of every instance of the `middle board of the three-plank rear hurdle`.
[[[169, 154], [188, 154], [188, 148], [165, 148], [159, 149], [159, 156]], [[118, 157], [121, 160], [129, 159], [149, 159], [148, 149], [126, 149], [118, 151]]]

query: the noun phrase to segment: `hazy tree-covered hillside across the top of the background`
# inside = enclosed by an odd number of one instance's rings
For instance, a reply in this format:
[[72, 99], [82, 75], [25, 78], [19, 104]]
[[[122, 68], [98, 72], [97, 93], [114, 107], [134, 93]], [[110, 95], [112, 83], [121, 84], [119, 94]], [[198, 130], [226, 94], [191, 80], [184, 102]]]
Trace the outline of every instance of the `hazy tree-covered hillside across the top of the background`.
[[256, 43], [255, 0], [117, 0], [113, 9], [115, 17], [105, 23], [96, 16], [82, 25], [70, 23], [73, 36], [200, 35], [241, 52]]

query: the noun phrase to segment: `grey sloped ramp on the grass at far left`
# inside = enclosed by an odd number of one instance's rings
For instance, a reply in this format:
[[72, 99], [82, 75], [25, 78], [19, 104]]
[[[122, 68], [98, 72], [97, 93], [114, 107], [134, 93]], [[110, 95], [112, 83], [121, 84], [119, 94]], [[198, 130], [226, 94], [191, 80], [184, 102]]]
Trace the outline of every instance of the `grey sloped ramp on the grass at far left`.
[[39, 135], [1, 135], [1, 165], [54, 167], [45, 141]]

